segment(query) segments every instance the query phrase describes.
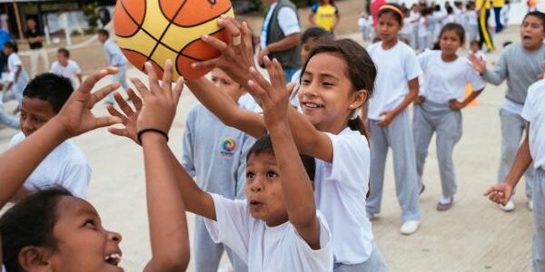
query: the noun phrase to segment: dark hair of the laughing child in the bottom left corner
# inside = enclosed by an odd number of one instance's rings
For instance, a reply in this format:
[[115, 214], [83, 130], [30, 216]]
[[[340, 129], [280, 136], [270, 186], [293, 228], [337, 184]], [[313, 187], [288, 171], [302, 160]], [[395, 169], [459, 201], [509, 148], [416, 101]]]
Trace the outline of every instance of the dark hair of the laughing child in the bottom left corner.
[[57, 241], [53, 235], [58, 220], [56, 206], [63, 197], [73, 195], [61, 187], [38, 191], [17, 203], [0, 218], [6, 271], [23, 271], [18, 256], [25, 247], [56, 248]]

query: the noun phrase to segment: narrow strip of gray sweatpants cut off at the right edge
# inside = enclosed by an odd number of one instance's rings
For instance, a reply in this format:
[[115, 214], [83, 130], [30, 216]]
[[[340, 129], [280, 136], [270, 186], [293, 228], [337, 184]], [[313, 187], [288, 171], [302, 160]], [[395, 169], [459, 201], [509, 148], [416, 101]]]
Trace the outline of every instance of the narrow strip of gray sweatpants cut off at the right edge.
[[545, 271], [545, 169], [536, 170], [533, 187], [534, 224], [533, 224], [533, 260], [531, 270]]

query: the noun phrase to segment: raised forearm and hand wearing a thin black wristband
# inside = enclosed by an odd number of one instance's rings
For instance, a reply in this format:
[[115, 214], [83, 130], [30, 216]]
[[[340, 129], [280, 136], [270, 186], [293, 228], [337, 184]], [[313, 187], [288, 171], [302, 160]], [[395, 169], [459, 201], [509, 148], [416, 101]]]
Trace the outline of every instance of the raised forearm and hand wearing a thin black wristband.
[[151, 271], [184, 271], [189, 264], [189, 235], [185, 207], [170, 161], [168, 131], [182, 94], [178, 80], [172, 90], [172, 62], [165, 64], [163, 84], [150, 63], [145, 64], [150, 90], [142, 90], [144, 107], [136, 121], [137, 139], [144, 150], [146, 200], [152, 260], [144, 268]]

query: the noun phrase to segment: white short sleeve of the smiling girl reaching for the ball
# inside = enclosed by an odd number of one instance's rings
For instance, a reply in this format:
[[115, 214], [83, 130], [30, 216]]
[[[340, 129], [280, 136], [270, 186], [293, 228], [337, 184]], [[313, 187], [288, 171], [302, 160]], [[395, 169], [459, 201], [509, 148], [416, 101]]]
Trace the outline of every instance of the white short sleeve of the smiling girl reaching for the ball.
[[327, 166], [331, 172], [326, 180], [336, 180], [357, 189], [367, 188], [370, 150], [365, 137], [356, 131], [327, 135], [332, 141], [333, 161]]

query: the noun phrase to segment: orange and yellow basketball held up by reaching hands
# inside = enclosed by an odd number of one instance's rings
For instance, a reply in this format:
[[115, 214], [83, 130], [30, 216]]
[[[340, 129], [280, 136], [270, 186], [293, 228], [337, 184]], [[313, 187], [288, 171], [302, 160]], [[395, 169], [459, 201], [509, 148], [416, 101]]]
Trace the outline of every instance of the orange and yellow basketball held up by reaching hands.
[[211, 69], [192, 69], [191, 63], [220, 55], [201, 36], [231, 42], [231, 35], [217, 24], [221, 15], [234, 16], [229, 0], [118, 0], [114, 33], [128, 61], [141, 71], [149, 61], [162, 77], [164, 62], [171, 59], [174, 80], [180, 75], [193, 80]]

